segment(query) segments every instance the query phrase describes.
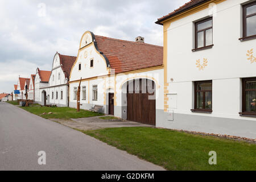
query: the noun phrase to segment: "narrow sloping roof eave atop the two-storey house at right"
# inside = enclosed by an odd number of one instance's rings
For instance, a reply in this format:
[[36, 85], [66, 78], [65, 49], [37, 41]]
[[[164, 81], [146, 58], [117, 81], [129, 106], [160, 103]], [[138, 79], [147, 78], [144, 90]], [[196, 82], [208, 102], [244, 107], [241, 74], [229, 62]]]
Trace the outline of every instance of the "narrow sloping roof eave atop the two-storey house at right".
[[156, 24], [162, 24], [161, 22], [163, 20], [166, 20], [168, 18], [171, 18], [172, 16], [175, 16], [177, 14], [180, 14], [188, 9], [191, 9], [193, 7], [196, 7], [198, 5], [201, 5], [202, 3], [208, 2], [210, 0], [191, 0], [187, 3], [185, 3], [183, 6], [180, 6], [178, 9], [172, 11], [168, 15], [163, 16], [162, 18], [158, 18], [158, 20], [155, 22]]

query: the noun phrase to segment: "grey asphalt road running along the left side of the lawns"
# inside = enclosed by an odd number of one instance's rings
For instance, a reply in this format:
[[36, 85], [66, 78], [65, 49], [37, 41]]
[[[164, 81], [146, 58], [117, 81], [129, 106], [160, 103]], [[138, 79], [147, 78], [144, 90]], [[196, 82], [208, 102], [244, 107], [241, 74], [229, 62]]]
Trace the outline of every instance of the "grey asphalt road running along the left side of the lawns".
[[[39, 151], [46, 165], [39, 165]], [[163, 170], [79, 131], [0, 102], [0, 170]]]

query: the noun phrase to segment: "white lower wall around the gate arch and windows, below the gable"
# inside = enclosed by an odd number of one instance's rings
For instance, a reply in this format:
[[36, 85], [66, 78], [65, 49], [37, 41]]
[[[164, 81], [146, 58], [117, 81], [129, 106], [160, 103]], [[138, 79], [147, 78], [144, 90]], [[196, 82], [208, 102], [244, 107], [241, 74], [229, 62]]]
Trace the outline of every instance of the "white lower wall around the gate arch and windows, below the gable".
[[[163, 109], [163, 69], [156, 69], [154, 71], [147, 71], [142, 73], [131, 73], [131, 74], [118, 74], [116, 76], [105, 76], [98, 77], [94, 80], [82, 81], [81, 92], [80, 92], [80, 103], [86, 105], [108, 105], [108, 94], [109, 92], [114, 93], [115, 101], [114, 106], [121, 108], [125, 103], [122, 101], [122, 85], [126, 84], [127, 81], [136, 78], [148, 78], [154, 80], [156, 84], [156, 109]], [[93, 85], [98, 86], [98, 99], [93, 101]], [[78, 87], [79, 82], [71, 82], [69, 84], [69, 103], [71, 106], [76, 106], [77, 100], [74, 100], [73, 88]], [[86, 100], [82, 100], [82, 86], [86, 86]], [[104, 112], [106, 108], [104, 107]], [[116, 117], [122, 117], [122, 110], [115, 110], [114, 115]]]

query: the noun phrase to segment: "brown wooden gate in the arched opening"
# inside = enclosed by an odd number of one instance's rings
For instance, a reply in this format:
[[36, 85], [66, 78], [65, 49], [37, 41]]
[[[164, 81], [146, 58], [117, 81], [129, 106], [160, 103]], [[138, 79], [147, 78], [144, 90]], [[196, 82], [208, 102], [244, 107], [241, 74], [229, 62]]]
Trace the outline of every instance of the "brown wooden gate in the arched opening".
[[[155, 125], [154, 93], [148, 93], [148, 89], [144, 89], [146, 93], [143, 93], [142, 79], [139, 80], [139, 92], [138, 90], [135, 92], [135, 80], [130, 84], [133, 84], [133, 91], [129, 92], [127, 84], [127, 120]], [[152, 89], [155, 89], [154, 81], [152, 81]]]

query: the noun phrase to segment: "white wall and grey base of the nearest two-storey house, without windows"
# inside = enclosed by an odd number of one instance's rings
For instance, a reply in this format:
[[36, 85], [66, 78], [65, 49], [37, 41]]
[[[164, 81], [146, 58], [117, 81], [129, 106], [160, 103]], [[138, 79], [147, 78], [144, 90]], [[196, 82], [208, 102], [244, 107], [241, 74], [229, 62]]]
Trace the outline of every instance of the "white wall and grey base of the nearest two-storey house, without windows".
[[[213, 48], [192, 52], [194, 22], [206, 18], [210, 9], [201, 10], [170, 24], [167, 30], [167, 88], [177, 94], [177, 105], [168, 101], [168, 110], [174, 110], [174, 121], [168, 113], [157, 127], [220, 133], [255, 138], [255, 120], [241, 117], [241, 78], [255, 77], [256, 63], [247, 60], [247, 50], [254, 49], [256, 39], [241, 42], [242, 6], [244, 0], [227, 0], [217, 4], [213, 15]], [[196, 60], [208, 60], [203, 71]], [[174, 81], [171, 81], [173, 79]], [[192, 113], [194, 109], [193, 82], [212, 80], [213, 112]]]

